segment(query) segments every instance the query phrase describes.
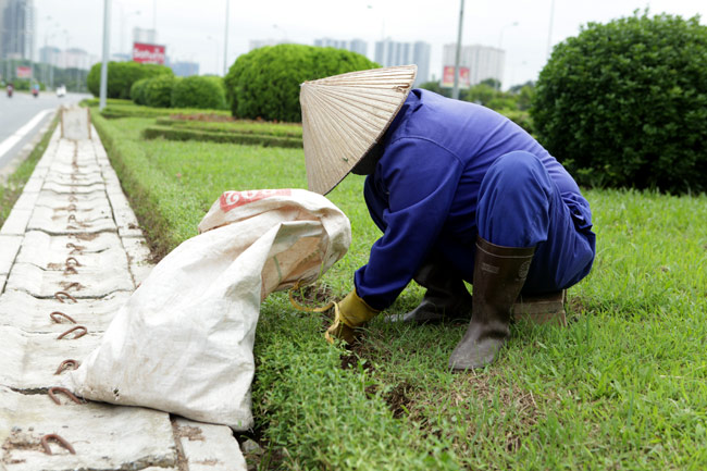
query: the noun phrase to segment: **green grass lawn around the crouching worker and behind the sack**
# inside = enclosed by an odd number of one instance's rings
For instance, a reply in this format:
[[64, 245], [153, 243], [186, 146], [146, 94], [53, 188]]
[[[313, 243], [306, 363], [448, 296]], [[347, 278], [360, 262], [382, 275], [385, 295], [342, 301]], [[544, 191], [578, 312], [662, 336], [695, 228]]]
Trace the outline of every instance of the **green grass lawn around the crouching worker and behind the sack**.
[[[195, 236], [224, 190], [306, 187], [301, 149], [144, 140], [154, 119], [97, 114], [158, 256]], [[330, 194], [354, 236], [317, 287], [332, 299], [379, 237], [361, 189], [350, 175]], [[255, 351], [260, 469], [707, 469], [707, 197], [585, 196], [598, 253], [569, 292], [569, 326], [516, 324], [484, 370], [447, 369], [466, 325], [381, 315], [351, 352], [324, 342], [327, 319], [271, 295]], [[422, 294], [412, 283], [386, 314]]]

